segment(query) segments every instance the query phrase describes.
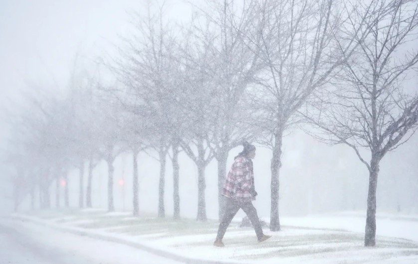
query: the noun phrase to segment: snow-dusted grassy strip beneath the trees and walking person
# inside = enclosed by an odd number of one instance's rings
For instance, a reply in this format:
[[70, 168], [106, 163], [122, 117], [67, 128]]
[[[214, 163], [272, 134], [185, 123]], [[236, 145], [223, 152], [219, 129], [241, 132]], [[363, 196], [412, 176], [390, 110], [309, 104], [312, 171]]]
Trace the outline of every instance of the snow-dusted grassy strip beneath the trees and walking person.
[[[364, 223], [357, 216], [282, 218], [282, 231], [274, 233], [273, 238], [264, 243], [257, 243], [252, 228], [239, 228], [235, 222], [226, 232], [225, 248], [212, 246], [217, 221], [199, 223], [190, 219], [135, 218], [130, 213], [109, 214], [97, 210], [37, 212], [14, 217], [125, 243], [188, 263], [201, 263], [203, 260], [207, 263], [418, 262], [418, 243], [414, 238], [378, 236], [375, 248], [365, 248], [363, 233], [359, 231]], [[353, 221], [354, 218], [359, 218], [359, 222]], [[396, 222], [396, 219], [391, 221], [395, 223], [389, 223], [388, 228], [405, 224]], [[418, 222], [409, 223], [416, 225]], [[324, 226], [335, 230], [325, 229]], [[268, 229], [265, 233], [269, 233]]]

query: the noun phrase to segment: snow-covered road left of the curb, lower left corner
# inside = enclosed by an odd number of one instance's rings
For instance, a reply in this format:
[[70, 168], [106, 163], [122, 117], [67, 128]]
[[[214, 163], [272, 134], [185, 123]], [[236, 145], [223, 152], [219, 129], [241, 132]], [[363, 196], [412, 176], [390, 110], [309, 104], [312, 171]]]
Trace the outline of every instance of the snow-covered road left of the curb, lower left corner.
[[0, 263], [177, 264], [123, 244], [57, 231], [30, 222], [0, 219]]

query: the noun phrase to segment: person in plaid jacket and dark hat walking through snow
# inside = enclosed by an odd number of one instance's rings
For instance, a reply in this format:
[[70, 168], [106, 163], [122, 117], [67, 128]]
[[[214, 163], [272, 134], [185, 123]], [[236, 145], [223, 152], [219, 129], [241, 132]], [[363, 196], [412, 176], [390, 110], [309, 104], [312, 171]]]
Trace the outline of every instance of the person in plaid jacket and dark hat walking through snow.
[[257, 210], [252, 205], [257, 192], [254, 188], [254, 172], [252, 160], [255, 157], [255, 146], [244, 141], [243, 150], [234, 158], [231, 169], [223, 183], [222, 195], [225, 196], [224, 214], [219, 223], [215, 247], [224, 247], [222, 239], [226, 229], [239, 209], [242, 209], [254, 227], [258, 242], [266, 241], [271, 238], [263, 234]]

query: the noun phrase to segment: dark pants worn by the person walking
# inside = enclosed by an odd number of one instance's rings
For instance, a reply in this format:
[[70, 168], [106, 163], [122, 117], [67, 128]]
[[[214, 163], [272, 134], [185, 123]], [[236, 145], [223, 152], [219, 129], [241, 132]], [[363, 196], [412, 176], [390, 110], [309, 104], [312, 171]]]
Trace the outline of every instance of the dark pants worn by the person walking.
[[260, 220], [258, 219], [257, 210], [252, 205], [251, 201], [248, 202], [237, 202], [230, 198], [225, 199], [225, 210], [222, 220], [219, 224], [219, 229], [217, 230], [217, 240], [222, 240], [223, 235], [225, 235], [226, 228], [228, 228], [229, 224], [232, 221], [232, 218], [236, 215], [238, 210], [241, 208], [242, 211], [247, 214], [249, 220], [251, 221], [252, 226], [255, 230], [255, 235], [257, 235], [257, 239], [260, 239], [263, 236], [263, 230], [261, 229]]

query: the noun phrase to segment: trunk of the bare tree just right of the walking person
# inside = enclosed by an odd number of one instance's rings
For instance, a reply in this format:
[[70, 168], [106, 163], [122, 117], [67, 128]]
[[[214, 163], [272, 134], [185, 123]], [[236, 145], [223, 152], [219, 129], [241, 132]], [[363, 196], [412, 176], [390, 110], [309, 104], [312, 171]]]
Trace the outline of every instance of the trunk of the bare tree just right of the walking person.
[[274, 136], [273, 156], [271, 158], [271, 208], [270, 231], [280, 231], [279, 220], [279, 170], [281, 167], [281, 147], [283, 130], [279, 129]]

